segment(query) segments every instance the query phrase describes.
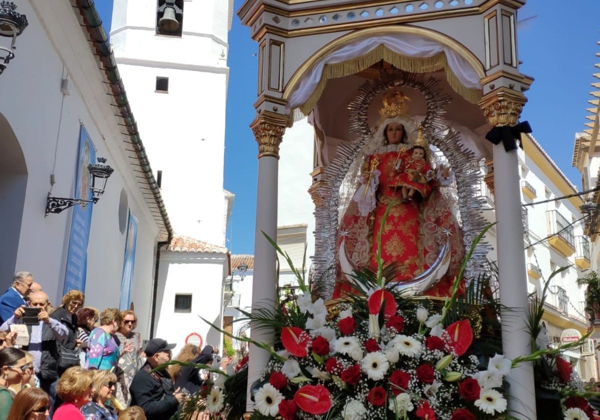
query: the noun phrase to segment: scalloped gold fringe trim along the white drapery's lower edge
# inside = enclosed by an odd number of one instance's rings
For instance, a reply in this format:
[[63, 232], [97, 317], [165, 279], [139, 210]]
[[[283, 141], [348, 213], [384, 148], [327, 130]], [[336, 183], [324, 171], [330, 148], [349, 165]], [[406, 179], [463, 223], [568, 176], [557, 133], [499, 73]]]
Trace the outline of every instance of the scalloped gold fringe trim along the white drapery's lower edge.
[[[329, 79], [337, 79], [338, 77], [359, 73], [380, 60], [385, 60], [394, 65], [394, 67], [403, 71], [409, 71], [410, 73], [431, 73], [443, 69], [446, 72], [446, 80], [448, 80], [449, 85], [457, 92], [457, 94], [474, 104], [478, 103], [481, 99], [481, 91], [479, 89], [466, 88], [460, 83], [460, 80], [458, 80], [454, 71], [449, 67], [445, 53], [441, 52], [433, 57], [427, 58], [413, 58], [400, 55], [385, 45], [380, 44], [375, 49], [360, 57], [340, 63], [325, 64], [319, 85], [317, 85], [307, 101], [299, 106], [298, 109], [300, 109], [304, 115], [308, 115], [323, 94], [325, 85]], [[298, 121], [296, 118], [297, 116], [295, 114], [294, 121]]]

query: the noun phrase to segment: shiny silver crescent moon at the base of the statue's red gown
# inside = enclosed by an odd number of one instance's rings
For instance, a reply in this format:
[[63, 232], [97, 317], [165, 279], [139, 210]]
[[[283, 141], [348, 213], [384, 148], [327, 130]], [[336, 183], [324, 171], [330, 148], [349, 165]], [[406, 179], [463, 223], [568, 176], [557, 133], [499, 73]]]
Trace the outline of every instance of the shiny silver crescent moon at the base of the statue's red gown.
[[[352, 262], [350, 262], [350, 259], [346, 254], [346, 238], [342, 238], [338, 254], [342, 277], [346, 278], [350, 283], [353, 283], [352, 279], [346, 276], [346, 273], [356, 271], [356, 268], [352, 265]], [[427, 270], [422, 272], [422, 274], [413, 278], [413, 280], [398, 281], [396, 286], [394, 286], [394, 289], [406, 296], [421, 295], [431, 289], [431, 287], [435, 286], [437, 282], [440, 281], [440, 278], [446, 274], [448, 267], [450, 266], [450, 259], [450, 236], [447, 234], [446, 241], [442, 245], [442, 248], [440, 248], [440, 252], [437, 254], [433, 264], [431, 264]]]

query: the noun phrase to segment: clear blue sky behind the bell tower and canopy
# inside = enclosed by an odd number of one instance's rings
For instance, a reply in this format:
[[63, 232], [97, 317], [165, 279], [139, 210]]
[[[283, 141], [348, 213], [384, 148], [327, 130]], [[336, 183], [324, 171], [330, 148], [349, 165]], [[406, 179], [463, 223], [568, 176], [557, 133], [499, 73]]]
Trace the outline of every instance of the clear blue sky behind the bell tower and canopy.
[[[242, 2], [235, 0], [235, 11]], [[110, 26], [112, 0], [98, 0], [96, 7], [105, 26]], [[529, 121], [533, 136], [578, 188], [580, 175], [571, 167], [571, 158], [575, 133], [586, 128], [590, 83], [598, 81], [592, 74], [600, 73], [594, 67], [600, 62], [595, 56], [600, 52], [599, 16], [600, 0], [527, 0], [518, 16], [520, 20], [533, 17], [520, 25], [518, 54], [521, 72], [535, 78], [521, 120]], [[227, 246], [234, 254], [251, 254], [257, 146], [248, 125], [254, 118], [257, 45], [236, 16], [229, 47], [224, 188], [235, 194], [235, 204]]]

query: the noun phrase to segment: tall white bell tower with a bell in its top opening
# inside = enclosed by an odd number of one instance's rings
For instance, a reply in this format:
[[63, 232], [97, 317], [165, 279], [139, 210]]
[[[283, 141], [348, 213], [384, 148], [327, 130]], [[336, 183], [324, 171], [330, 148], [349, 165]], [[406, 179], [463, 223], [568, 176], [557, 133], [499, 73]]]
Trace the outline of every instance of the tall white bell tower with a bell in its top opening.
[[177, 235], [224, 245], [231, 0], [115, 0], [110, 41]]

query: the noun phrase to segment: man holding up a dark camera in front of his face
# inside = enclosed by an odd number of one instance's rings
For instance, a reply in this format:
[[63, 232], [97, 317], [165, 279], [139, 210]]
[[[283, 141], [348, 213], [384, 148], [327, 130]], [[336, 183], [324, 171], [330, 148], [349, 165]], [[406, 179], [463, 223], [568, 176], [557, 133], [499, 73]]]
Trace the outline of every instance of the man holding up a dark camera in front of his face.
[[31, 293], [29, 299], [30, 306], [21, 305], [16, 308], [13, 316], [0, 326], [0, 331], [10, 331], [10, 326], [13, 324], [27, 326], [29, 344], [22, 345], [21, 349], [27, 350], [34, 357], [34, 371], [40, 377], [44, 361], [47, 361], [50, 354], [56, 355], [56, 341], [64, 340], [68, 335], [68, 329], [48, 315], [46, 311], [48, 295], [46, 293], [41, 291]]

